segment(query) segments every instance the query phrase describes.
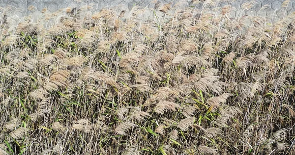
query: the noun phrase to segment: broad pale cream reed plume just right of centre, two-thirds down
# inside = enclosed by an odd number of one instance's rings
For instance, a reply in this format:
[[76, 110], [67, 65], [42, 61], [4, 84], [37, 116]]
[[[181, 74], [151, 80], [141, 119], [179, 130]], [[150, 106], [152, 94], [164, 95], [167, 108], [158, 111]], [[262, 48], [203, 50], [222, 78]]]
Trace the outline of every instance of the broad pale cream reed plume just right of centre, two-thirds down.
[[158, 114], [164, 114], [164, 112], [167, 110], [176, 111], [178, 108], [180, 108], [180, 105], [177, 103], [161, 101], [156, 105], [154, 111]]

